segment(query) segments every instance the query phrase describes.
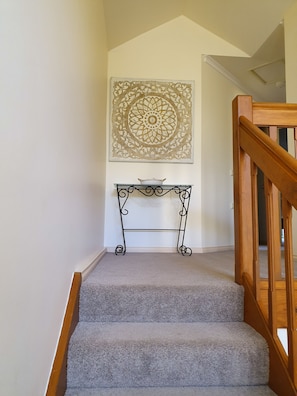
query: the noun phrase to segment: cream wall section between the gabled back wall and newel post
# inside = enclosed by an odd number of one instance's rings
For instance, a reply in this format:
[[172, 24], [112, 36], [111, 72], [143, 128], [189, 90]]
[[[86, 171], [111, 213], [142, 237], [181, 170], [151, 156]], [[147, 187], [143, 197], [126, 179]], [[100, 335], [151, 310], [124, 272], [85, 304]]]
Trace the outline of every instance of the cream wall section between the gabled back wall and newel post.
[[[245, 92], [202, 64], [202, 246], [233, 246], [232, 100]], [[210, 116], [212, 115], [212, 116]]]

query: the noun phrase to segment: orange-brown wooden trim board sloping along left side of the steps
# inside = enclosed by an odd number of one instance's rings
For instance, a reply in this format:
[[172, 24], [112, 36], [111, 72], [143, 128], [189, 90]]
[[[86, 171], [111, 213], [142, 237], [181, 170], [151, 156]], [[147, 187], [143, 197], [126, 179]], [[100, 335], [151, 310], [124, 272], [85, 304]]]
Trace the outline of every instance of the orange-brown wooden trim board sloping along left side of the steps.
[[46, 396], [64, 396], [67, 388], [67, 350], [70, 337], [79, 320], [79, 291], [81, 279], [81, 273], [75, 272]]

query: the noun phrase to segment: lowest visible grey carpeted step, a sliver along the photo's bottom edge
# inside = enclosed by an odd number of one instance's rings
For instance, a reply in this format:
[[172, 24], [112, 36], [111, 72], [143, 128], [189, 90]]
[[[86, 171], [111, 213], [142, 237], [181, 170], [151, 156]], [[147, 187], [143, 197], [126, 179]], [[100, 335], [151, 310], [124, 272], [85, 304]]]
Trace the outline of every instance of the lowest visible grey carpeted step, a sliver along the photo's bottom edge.
[[65, 396], [276, 396], [262, 386], [68, 389]]

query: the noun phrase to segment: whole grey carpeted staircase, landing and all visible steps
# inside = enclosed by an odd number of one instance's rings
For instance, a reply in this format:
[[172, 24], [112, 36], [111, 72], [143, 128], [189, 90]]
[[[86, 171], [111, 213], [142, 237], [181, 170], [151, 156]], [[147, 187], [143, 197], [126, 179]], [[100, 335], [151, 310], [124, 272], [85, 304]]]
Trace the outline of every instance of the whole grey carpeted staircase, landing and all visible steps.
[[233, 252], [108, 253], [80, 293], [66, 396], [275, 395]]

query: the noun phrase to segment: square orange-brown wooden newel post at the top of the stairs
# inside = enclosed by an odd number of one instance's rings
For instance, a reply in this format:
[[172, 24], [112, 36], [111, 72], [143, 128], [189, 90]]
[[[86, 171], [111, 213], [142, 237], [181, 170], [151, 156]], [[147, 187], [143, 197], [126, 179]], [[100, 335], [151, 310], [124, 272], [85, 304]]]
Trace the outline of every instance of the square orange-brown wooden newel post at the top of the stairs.
[[235, 281], [242, 284], [243, 273], [253, 279], [253, 215], [250, 157], [240, 147], [240, 116], [253, 121], [251, 96], [237, 96], [233, 110], [233, 194], [235, 235]]

